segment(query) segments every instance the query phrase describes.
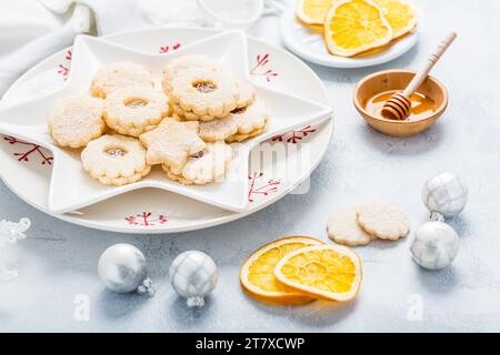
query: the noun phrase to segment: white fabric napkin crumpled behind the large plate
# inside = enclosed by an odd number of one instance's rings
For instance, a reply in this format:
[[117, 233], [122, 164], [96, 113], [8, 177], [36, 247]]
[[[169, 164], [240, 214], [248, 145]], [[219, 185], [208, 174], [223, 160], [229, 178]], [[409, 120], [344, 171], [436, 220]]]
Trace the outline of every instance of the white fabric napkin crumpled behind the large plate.
[[79, 33], [201, 22], [192, 0], [2, 0], [0, 97], [37, 62], [71, 45]]

